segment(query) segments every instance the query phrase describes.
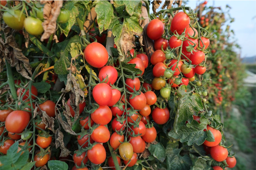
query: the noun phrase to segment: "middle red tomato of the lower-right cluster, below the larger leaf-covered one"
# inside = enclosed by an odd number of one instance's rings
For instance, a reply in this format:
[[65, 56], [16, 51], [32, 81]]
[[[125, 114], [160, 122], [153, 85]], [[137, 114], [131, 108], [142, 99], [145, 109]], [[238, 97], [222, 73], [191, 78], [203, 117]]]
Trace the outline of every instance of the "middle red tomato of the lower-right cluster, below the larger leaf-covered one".
[[228, 157], [228, 150], [220, 145], [211, 147], [210, 150], [211, 156], [215, 161], [222, 162]]

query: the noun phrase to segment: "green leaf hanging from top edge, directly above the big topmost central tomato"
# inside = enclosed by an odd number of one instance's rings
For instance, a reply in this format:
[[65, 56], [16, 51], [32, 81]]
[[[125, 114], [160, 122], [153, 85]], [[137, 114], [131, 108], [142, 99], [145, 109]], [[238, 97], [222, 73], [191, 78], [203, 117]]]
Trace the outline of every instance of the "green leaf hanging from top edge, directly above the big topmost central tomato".
[[93, 5], [96, 5], [95, 12], [97, 13], [99, 31], [102, 33], [108, 29], [111, 19], [114, 16], [114, 9], [108, 1], [94, 1]]

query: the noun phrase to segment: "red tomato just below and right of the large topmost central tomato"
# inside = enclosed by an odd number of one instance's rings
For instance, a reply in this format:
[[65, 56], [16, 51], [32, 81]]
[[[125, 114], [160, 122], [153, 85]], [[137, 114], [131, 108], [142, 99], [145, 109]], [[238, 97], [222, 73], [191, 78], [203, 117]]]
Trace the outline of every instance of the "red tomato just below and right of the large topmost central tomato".
[[105, 80], [105, 83], [107, 83], [108, 85], [110, 85], [111, 83], [113, 85], [117, 80], [117, 70], [112, 66], [102, 67], [99, 72], [99, 79], [102, 82], [103, 79], [105, 79], [106, 77], [107, 79]]

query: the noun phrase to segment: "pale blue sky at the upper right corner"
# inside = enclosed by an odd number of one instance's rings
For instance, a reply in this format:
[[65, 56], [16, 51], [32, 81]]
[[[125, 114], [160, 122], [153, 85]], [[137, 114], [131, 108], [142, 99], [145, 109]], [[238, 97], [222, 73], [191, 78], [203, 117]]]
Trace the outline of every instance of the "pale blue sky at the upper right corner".
[[[195, 9], [201, 2], [204, 1], [187, 1], [187, 6]], [[241, 46], [238, 51], [241, 57], [256, 56], [256, 1], [208, 1], [206, 6], [213, 4], [224, 11], [227, 11], [226, 5], [231, 7], [229, 13], [235, 21], [229, 24], [235, 32], [235, 40]]]

